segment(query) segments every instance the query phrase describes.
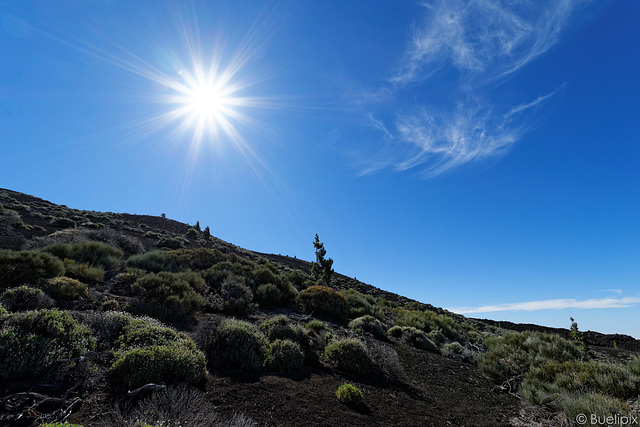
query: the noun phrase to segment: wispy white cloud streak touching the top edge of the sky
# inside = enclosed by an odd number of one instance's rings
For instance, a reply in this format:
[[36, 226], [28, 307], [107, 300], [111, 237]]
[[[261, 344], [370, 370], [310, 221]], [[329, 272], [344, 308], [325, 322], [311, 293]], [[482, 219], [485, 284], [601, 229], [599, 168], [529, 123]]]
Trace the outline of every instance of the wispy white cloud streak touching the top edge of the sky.
[[451, 65], [494, 80], [518, 71], [557, 43], [577, 0], [543, 2], [441, 0], [414, 32], [406, 60], [391, 79], [424, 80]]

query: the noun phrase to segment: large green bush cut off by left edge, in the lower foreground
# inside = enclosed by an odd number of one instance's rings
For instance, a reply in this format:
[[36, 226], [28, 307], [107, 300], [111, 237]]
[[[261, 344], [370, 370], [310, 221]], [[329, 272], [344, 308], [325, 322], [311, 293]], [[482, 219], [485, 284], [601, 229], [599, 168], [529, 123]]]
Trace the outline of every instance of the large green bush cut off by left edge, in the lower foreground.
[[90, 330], [64, 311], [7, 314], [0, 318], [0, 378], [38, 376], [94, 347]]

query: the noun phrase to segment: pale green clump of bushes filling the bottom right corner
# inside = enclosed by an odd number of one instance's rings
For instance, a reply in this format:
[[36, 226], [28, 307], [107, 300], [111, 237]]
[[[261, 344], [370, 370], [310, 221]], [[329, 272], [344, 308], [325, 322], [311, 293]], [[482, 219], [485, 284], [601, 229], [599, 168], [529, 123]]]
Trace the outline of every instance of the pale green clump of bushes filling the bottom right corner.
[[537, 332], [509, 333], [485, 343], [489, 352], [478, 360], [485, 374], [497, 383], [514, 384], [531, 403], [564, 411], [570, 418], [628, 414], [625, 401], [640, 393], [637, 360], [592, 360], [588, 349]]

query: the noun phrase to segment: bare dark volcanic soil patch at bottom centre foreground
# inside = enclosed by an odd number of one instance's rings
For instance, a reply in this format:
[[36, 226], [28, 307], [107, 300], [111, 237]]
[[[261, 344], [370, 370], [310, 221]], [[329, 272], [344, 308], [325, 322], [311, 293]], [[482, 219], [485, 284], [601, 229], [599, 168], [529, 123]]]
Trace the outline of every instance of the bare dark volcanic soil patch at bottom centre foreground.
[[[294, 377], [214, 373], [207, 394], [219, 413], [243, 412], [261, 426], [507, 426], [518, 415], [520, 401], [492, 392], [476, 365], [408, 346], [395, 349], [406, 385], [368, 384], [308, 368]], [[334, 393], [345, 382], [362, 390], [365, 407], [338, 402]]]

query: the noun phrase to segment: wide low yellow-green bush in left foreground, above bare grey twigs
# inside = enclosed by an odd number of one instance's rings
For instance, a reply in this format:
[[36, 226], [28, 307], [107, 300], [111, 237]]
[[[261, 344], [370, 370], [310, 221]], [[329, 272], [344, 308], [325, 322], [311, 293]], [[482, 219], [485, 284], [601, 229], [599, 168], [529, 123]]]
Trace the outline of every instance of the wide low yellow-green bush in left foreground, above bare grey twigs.
[[158, 382], [194, 384], [204, 377], [206, 364], [202, 352], [191, 344], [172, 342], [126, 350], [111, 369], [129, 388]]

